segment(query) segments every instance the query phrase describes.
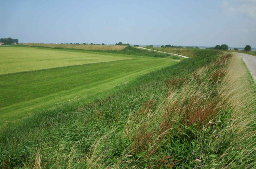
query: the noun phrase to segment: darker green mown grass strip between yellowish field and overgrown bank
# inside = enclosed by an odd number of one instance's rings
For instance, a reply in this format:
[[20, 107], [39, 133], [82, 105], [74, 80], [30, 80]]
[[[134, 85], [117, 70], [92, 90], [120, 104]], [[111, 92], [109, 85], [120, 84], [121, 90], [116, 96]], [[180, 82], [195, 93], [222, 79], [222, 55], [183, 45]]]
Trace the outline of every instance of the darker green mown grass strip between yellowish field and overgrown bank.
[[139, 58], [0, 77], [0, 125], [65, 101], [89, 101], [116, 85], [177, 61]]

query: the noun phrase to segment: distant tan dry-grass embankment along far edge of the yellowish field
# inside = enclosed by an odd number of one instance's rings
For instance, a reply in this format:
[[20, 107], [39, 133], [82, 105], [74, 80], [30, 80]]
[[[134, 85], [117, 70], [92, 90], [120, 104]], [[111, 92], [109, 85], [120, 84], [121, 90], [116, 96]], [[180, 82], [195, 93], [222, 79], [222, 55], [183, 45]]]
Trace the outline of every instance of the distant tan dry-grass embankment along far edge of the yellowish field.
[[83, 49], [83, 50], [122, 50], [126, 46], [121, 45], [76, 45], [76, 44], [24, 44], [28, 46], [44, 46], [50, 48], [72, 48], [72, 49]]

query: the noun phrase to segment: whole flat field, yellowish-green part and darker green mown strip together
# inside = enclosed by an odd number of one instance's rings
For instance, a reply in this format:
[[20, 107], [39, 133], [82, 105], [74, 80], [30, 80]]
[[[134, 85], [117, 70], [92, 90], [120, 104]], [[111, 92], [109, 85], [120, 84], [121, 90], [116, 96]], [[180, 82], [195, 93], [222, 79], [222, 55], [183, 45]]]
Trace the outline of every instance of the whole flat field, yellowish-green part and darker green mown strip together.
[[[23, 47], [0, 48], [0, 55], [0, 71], [5, 74], [0, 76], [0, 127], [62, 103], [92, 101], [141, 74], [177, 63], [168, 58]], [[29, 70], [38, 71], [24, 72]], [[21, 73], [10, 74], [14, 72]]]

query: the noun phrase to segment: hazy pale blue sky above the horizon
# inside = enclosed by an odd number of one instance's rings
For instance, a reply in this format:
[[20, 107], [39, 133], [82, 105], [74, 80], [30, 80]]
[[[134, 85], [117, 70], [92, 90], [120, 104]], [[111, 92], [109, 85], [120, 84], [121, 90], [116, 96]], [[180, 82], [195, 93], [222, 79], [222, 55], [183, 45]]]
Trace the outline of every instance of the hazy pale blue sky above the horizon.
[[256, 48], [256, 0], [0, 0], [19, 42]]

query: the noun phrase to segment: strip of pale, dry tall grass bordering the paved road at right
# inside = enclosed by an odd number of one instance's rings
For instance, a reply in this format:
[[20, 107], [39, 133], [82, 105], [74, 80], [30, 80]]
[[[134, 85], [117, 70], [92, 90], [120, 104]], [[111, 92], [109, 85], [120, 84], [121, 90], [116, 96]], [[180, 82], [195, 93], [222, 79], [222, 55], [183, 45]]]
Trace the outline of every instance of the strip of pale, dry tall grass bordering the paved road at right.
[[220, 94], [231, 107], [228, 125], [220, 133], [228, 148], [219, 164], [229, 168], [256, 167], [256, 85], [239, 56], [228, 64], [227, 76]]

